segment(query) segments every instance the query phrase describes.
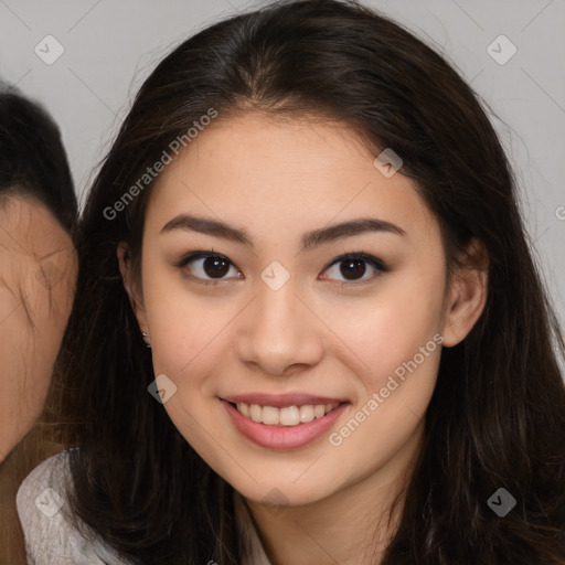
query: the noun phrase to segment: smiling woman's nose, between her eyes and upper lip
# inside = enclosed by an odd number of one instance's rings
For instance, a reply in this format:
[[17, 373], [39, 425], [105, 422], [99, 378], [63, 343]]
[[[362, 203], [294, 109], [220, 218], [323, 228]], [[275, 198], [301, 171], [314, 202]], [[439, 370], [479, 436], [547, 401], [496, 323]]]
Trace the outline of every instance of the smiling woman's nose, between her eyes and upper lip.
[[263, 281], [258, 287], [256, 298], [237, 317], [236, 347], [242, 362], [273, 375], [319, 363], [323, 323], [299, 297], [292, 279], [278, 290]]

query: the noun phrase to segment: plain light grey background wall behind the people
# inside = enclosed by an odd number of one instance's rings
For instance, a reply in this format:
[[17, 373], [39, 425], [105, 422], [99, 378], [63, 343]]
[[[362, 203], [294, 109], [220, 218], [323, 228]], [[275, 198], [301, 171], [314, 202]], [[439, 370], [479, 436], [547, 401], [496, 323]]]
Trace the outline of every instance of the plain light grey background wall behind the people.
[[[83, 203], [131, 97], [157, 62], [195, 31], [262, 3], [0, 0], [0, 78], [42, 102], [60, 124]], [[565, 326], [565, 0], [365, 4], [444, 53], [500, 118], [490, 115], [514, 164], [535, 256]], [[494, 41], [501, 34], [518, 50], [504, 64], [491, 56], [511, 54], [505, 40]], [[56, 53], [52, 40], [45, 46], [46, 35], [64, 49], [51, 65], [35, 52]]]

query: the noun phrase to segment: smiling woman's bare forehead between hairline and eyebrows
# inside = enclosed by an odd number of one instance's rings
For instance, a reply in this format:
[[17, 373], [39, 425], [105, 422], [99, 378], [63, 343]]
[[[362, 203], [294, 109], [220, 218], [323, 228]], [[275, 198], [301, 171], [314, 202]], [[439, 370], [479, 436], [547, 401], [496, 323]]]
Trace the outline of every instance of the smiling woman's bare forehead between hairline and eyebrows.
[[375, 157], [341, 122], [218, 118], [160, 173], [146, 220], [162, 227], [174, 214], [198, 211], [284, 234], [372, 215], [406, 232], [437, 231], [413, 182], [401, 172], [385, 177]]

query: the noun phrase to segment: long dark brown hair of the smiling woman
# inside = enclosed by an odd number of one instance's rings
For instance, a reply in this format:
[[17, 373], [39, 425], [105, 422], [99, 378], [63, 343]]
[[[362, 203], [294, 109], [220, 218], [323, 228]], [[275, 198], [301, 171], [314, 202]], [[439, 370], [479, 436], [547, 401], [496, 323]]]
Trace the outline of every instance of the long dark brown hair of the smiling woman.
[[[215, 23], [168, 54], [132, 102], [81, 220], [76, 302], [53, 390], [65, 445], [81, 446], [71, 450], [75, 515], [132, 563], [238, 559], [233, 487], [148, 394], [151, 354], [116, 257], [127, 242], [139, 280], [154, 181], [105, 215], [211, 107], [217, 120], [326, 117], [375, 156], [392, 148], [441, 227], [449, 273], [471, 238], [488, 252], [484, 310], [441, 353], [424, 449], [382, 564], [563, 564], [565, 344], [514, 172], [455, 68], [401, 24], [348, 0], [276, 2]], [[487, 504], [501, 487], [516, 500], [504, 518]]]

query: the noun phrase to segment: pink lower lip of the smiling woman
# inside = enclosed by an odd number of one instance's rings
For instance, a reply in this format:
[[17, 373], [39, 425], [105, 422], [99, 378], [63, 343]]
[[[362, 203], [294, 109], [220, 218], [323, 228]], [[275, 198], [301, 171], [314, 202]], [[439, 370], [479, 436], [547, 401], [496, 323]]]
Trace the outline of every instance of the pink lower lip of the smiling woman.
[[343, 414], [349, 403], [342, 403], [321, 418], [315, 418], [298, 426], [268, 426], [253, 422], [232, 406], [227, 401], [220, 399], [225, 406], [235, 427], [255, 444], [269, 449], [296, 449], [318, 439], [328, 431]]

